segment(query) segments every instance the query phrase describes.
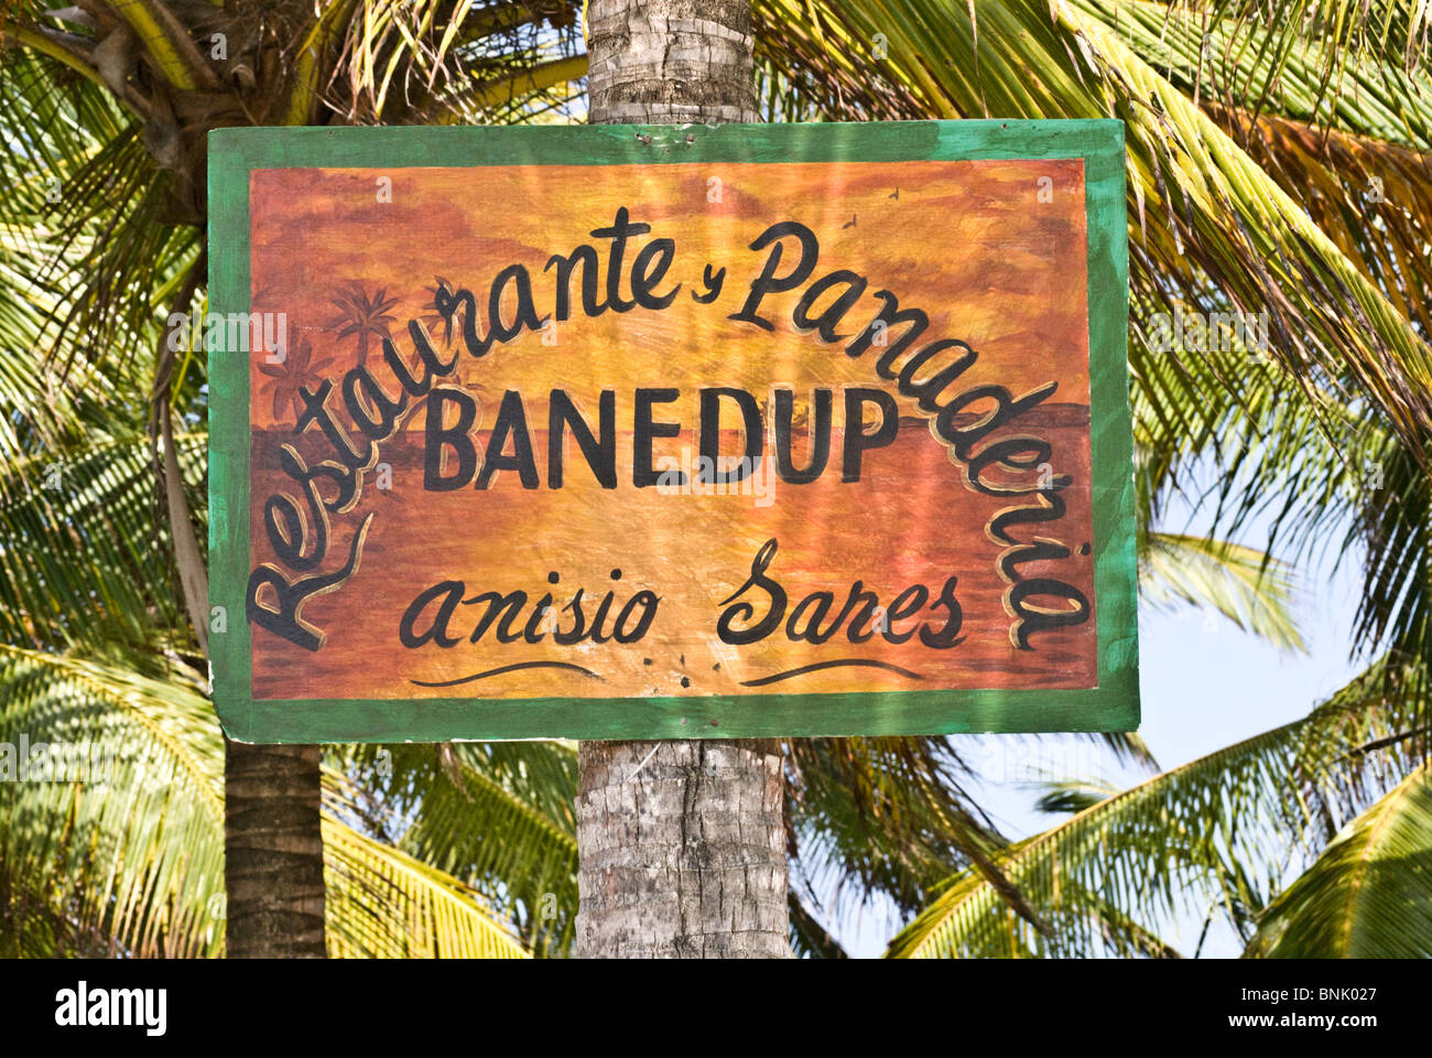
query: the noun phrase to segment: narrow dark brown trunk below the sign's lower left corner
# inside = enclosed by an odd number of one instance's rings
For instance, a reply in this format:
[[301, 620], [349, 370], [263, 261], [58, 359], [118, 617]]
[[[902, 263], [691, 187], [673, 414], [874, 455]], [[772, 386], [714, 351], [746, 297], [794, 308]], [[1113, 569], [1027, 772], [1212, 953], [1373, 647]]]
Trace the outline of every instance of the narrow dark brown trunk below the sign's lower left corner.
[[322, 959], [319, 747], [225, 740], [225, 945], [231, 959]]

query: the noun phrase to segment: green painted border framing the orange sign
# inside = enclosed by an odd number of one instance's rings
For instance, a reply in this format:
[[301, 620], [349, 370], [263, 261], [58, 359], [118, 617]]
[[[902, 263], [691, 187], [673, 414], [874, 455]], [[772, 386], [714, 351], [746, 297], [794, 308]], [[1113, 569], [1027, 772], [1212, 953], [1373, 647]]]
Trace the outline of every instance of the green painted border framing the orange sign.
[[[643, 142], [647, 136], [649, 142]], [[687, 142], [690, 138], [690, 142]], [[1084, 161], [1098, 687], [659, 698], [253, 701], [249, 694], [249, 409], [243, 353], [209, 363], [209, 602], [213, 694], [231, 738], [402, 743], [500, 738], [746, 738], [1130, 731], [1138, 725], [1128, 245], [1118, 120], [571, 128], [296, 128], [209, 133], [209, 298], [249, 310], [249, 171], [683, 162]], [[222, 394], [222, 396], [219, 396]], [[232, 518], [231, 518], [232, 512]], [[481, 702], [475, 721], [474, 704]], [[874, 708], [878, 707], [878, 708]]]

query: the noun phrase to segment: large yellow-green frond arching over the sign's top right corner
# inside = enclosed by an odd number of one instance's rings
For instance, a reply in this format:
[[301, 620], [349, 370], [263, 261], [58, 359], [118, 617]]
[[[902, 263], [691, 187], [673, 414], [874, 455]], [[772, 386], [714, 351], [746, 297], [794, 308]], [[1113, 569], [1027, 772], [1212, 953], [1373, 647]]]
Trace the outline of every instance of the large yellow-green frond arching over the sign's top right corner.
[[[756, 4], [765, 54], [788, 76], [806, 67], [835, 87], [836, 113], [1121, 119], [1136, 294], [1171, 311], [1179, 300], [1207, 302], [1213, 290], [1237, 311], [1267, 310], [1273, 356], [1300, 384], [1350, 387], [1419, 452], [1432, 426], [1425, 337], [1157, 59], [1136, 50], [1114, 9], [1098, 0]], [[1282, 73], [1292, 80], [1290, 69]]]

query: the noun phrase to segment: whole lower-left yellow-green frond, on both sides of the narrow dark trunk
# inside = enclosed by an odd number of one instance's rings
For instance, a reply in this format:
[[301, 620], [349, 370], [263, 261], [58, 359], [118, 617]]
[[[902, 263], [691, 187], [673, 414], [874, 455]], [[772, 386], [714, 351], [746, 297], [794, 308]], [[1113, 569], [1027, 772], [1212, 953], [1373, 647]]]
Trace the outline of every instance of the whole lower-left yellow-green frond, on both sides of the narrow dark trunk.
[[[82, 760], [19, 781], [21, 735]], [[222, 950], [223, 741], [198, 687], [0, 645], [0, 949]], [[332, 816], [324, 854], [334, 955], [524, 953], [471, 887]]]

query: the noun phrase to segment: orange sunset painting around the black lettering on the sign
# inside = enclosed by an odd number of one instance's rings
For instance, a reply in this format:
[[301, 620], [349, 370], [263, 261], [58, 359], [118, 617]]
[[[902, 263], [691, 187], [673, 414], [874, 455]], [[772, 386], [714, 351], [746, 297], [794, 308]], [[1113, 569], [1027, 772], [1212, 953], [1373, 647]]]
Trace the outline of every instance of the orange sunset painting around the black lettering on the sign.
[[[391, 179], [391, 201], [378, 201], [378, 176]], [[1047, 179], [1041, 179], [1047, 178]], [[1058, 390], [1002, 427], [1004, 436], [1037, 436], [1054, 450], [1054, 475], [1073, 485], [1060, 495], [1058, 522], [1018, 526], [1015, 536], [1040, 536], [1070, 548], [1071, 558], [1028, 563], [1025, 578], [1048, 573], [1078, 588], [1097, 609], [1091, 553], [1088, 343], [1083, 169], [1080, 162], [901, 162], [808, 165], [491, 166], [463, 169], [268, 169], [251, 178], [252, 308], [285, 313], [288, 357], [251, 370], [251, 565], [276, 563], [263, 528], [263, 502], [298, 490], [278, 464], [279, 444], [309, 463], [329, 457], [318, 430], [294, 433], [296, 391], [334, 383], [332, 406], [345, 371], [359, 357], [391, 393], [381, 335], [390, 333], [410, 363], [410, 320], [422, 320], [444, 354], [458, 353], [457, 384], [480, 401], [474, 429], [485, 446], [497, 406], [518, 390], [531, 427], [541, 487], [526, 490], [501, 472], [487, 490], [427, 492], [422, 487], [420, 404], [402, 429], [379, 446], [391, 487], [365, 475], [354, 510], [331, 516], [332, 540], [324, 569], [342, 563], [354, 533], [375, 515], [358, 571], [335, 591], [306, 601], [302, 619], [325, 635], [318, 651], [302, 649], [253, 626], [255, 698], [414, 697], [627, 697], [649, 694], [750, 694], [871, 691], [898, 688], [1081, 688], [1095, 684], [1095, 615], [1071, 628], [1034, 637], [1015, 649], [1007, 585], [995, 562], [1004, 545], [985, 525], [1011, 503], [964, 485], [961, 469], [934, 436], [928, 416], [896, 394], [874, 370], [879, 350], [845, 356], [841, 344], [799, 334], [790, 320], [802, 290], [769, 295], [760, 314], [775, 330], [729, 320], [748, 295], [768, 251], [749, 244], [770, 224], [799, 221], [819, 239], [811, 280], [853, 270], [869, 291], [886, 288], [902, 308], [929, 317], [924, 340], [958, 338], [978, 361], [951, 393], [1004, 386], [1015, 397], [1057, 381]], [[716, 182], [713, 182], [716, 181]], [[1044, 192], [1044, 194], [1041, 194]], [[716, 201], [713, 201], [716, 199]], [[485, 304], [488, 285], [507, 265], [533, 277], [540, 314], [551, 311], [551, 254], [590, 242], [603, 259], [603, 239], [589, 232], [611, 224], [619, 206], [652, 225], [630, 255], [652, 238], [672, 238], [674, 262], [664, 292], [682, 290], [664, 311], [587, 318], [579, 310], [556, 331], [526, 333], [494, 345], [483, 358], [448, 347], [431, 307], [441, 281], [465, 287]], [[788, 271], [795, 254], [786, 241]], [[700, 290], [703, 268], [726, 268], [712, 304]], [[441, 277], [441, 280], [438, 278]], [[809, 282], [809, 281], [808, 281]], [[626, 282], [623, 278], [623, 290]], [[868, 292], [841, 331], [859, 333], [878, 302]], [[574, 291], [576, 294], [576, 291]], [[339, 333], [354, 323], [354, 298], [378, 308], [362, 334]], [[574, 297], [574, 302], [579, 298]], [[344, 304], [347, 302], [347, 304]], [[819, 308], [819, 305], [818, 305]], [[896, 333], [892, 328], [892, 335]], [[836, 390], [831, 466], [811, 485], [772, 482], [765, 496], [660, 495], [632, 485], [632, 413], [637, 387], [673, 387], [680, 399], [659, 409], [682, 434], [657, 440], [659, 457], [696, 450], [696, 391], [730, 386], [768, 400], [772, 389], [795, 390], [798, 410], [815, 387]], [[896, 440], [865, 453], [859, 482], [839, 476], [842, 387], [881, 387], [901, 409]], [[569, 439], [566, 483], [547, 487], [547, 394], [566, 390], [594, 420], [603, 389], [616, 390], [617, 480], [604, 490]], [[982, 409], [981, 409], [982, 410]], [[342, 416], [339, 416], [342, 419]], [[725, 421], [733, 427], [735, 416]], [[795, 450], [803, 460], [809, 419], [798, 414]], [[768, 424], [769, 430], [769, 424]], [[723, 433], [723, 450], [739, 450], [739, 433]], [[769, 452], [769, 436], [766, 450]], [[988, 443], [988, 442], [987, 442]], [[768, 571], [789, 594], [829, 591], [839, 611], [852, 582], [884, 604], [922, 583], [939, 594], [958, 576], [962, 642], [948, 649], [876, 635], [852, 644], [842, 632], [823, 644], [790, 642], [782, 632], [750, 645], [716, 637], [720, 602], [746, 579], [760, 545], [779, 551]], [[276, 563], [281, 565], [281, 563]], [[621, 569], [620, 582], [611, 571]], [[557, 575], [557, 583], [548, 575]], [[481, 606], [460, 606], [453, 631], [463, 641], [405, 648], [398, 621], [430, 585], [463, 581], [468, 595], [526, 591], [534, 604], [551, 592], [560, 608], [576, 588], [589, 601], [609, 589], [620, 606], [632, 594], [660, 596], [646, 637], [634, 644], [581, 642], [561, 647], [500, 644], [493, 632], [468, 642]], [[750, 594], [762, 599], [759, 592]], [[520, 624], [526, 622], [523, 612]], [[925, 609], [896, 631], [934, 628], [944, 611]], [[569, 621], [560, 618], [560, 625]], [[878, 661], [889, 668], [843, 667], [812, 671], [775, 684], [772, 675], [832, 659]], [[526, 662], [576, 668], [524, 668], [453, 687], [425, 687]], [[418, 682], [414, 682], [418, 681]], [[756, 685], [752, 685], [756, 684]]]

